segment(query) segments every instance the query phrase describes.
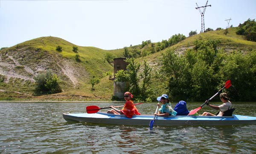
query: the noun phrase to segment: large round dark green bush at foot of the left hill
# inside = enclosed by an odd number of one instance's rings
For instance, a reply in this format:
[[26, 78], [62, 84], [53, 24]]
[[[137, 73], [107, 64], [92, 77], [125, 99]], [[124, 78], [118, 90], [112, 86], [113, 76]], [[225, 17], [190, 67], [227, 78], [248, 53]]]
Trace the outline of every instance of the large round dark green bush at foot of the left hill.
[[46, 72], [38, 74], [38, 76], [35, 77], [34, 93], [36, 95], [55, 94], [61, 91], [59, 79], [56, 74], [52, 73], [52, 71], [47, 70]]

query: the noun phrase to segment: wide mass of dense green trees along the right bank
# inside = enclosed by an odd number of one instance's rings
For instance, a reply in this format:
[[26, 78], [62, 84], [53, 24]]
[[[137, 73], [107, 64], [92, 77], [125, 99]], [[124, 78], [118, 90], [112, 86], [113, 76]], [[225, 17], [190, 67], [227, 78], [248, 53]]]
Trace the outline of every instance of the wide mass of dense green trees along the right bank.
[[[168, 81], [174, 100], [203, 101], [231, 80], [227, 89], [235, 100], [256, 100], [256, 51], [243, 55], [218, 50], [218, 41], [196, 40], [194, 48], [177, 55], [167, 50], [161, 57], [161, 78]], [[246, 97], [245, 97], [246, 96]]]

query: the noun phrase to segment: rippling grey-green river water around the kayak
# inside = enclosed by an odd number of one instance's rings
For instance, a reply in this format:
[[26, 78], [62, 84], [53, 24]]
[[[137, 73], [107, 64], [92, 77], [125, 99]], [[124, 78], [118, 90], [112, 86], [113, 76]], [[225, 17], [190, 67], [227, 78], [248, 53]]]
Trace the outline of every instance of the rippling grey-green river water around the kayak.
[[[86, 112], [85, 107], [90, 105], [123, 104], [0, 102], [0, 153], [256, 153], [256, 125], [161, 126], [149, 131], [147, 126], [67, 123], [62, 117], [62, 113]], [[142, 114], [153, 114], [156, 104], [144, 103], [137, 108]], [[187, 106], [192, 110], [201, 104]], [[256, 116], [256, 103], [236, 102], [233, 107], [234, 114]], [[216, 112], [208, 106], [199, 113], [203, 111]]]

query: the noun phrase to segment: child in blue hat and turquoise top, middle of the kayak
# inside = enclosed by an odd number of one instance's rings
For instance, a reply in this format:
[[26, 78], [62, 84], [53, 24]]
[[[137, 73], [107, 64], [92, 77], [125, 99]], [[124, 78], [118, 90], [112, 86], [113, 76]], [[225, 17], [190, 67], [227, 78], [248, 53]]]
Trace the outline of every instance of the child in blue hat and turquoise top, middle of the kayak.
[[[167, 94], [162, 94], [162, 96], [157, 97], [157, 100], [162, 103], [162, 106], [159, 108], [158, 113], [154, 115], [168, 117], [170, 115], [175, 116], [177, 114], [177, 112], [172, 109], [172, 105], [169, 102], [169, 97]], [[159, 103], [157, 105], [159, 105]]]

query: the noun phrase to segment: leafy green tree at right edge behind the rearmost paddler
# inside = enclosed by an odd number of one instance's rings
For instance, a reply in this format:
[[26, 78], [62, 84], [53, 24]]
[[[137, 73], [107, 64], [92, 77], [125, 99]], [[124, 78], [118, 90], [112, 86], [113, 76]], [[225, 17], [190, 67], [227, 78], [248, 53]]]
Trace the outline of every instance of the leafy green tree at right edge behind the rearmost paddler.
[[235, 51], [225, 58], [221, 67], [224, 80], [232, 81], [229, 88], [233, 100], [256, 100], [256, 51], [248, 54]]

